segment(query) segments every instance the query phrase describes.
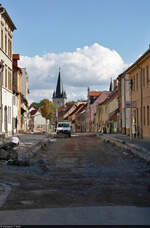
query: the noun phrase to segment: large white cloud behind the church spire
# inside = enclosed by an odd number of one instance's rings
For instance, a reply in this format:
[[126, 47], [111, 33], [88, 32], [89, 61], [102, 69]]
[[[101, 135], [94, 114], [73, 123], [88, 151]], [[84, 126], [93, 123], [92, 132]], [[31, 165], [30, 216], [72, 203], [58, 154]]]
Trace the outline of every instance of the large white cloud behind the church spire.
[[[94, 43], [74, 52], [47, 53], [43, 56], [21, 56], [20, 66], [29, 74], [30, 99], [52, 96], [56, 88], [58, 67], [68, 100], [87, 97], [89, 86], [104, 89], [127, 66], [115, 50]], [[50, 97], [51, 98], [51, 97]]]

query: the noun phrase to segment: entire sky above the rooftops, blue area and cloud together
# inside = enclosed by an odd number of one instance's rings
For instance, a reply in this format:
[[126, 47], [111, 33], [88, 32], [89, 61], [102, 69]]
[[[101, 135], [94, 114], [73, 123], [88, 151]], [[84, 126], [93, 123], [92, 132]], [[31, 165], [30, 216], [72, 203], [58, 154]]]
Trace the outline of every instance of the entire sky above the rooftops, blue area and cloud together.
[[149, 0], [1, 0], [17, 30], [13, 53], [29, 75], [29, 102], [52, 99], [59, 67], [68, 100], [108, 90], [150, 44]]

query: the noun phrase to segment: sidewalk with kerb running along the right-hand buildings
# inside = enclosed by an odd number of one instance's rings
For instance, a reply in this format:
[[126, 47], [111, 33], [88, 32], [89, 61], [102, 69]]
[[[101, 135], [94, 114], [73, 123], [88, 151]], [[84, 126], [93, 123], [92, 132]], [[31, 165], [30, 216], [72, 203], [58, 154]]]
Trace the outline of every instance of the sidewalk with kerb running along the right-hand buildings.
[[130, 136], [123, 134], [100, 134], [103, 140], [110, 141], [115, 145], [130, 150], [135, 155], [150, 162], [150, 140], [148, 139], [130, 139]]

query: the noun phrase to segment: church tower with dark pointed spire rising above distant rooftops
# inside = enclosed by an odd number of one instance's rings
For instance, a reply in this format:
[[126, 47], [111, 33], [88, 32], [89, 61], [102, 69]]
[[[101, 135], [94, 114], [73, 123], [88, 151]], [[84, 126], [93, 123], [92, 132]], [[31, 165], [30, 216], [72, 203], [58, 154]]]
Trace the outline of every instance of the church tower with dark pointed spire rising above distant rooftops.
[[63, 84], [60, 76], [60, 68], [59, 68], [56, 91], [53, 92], [53, 103], [56, 104], [58, 107], [60, 107], [60, 106], [64, 106], [66, 102], [67, 102], [67, 96], [66, 96], [66, 92], [63, 89]]

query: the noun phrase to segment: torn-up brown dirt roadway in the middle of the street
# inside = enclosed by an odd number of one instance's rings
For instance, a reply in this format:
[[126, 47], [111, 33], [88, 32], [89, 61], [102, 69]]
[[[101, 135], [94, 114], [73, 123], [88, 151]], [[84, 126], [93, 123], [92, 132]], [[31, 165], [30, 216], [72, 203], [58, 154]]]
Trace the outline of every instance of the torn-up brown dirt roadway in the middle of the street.
[[150, 206], [149, 164], [96, 136], [54, 139], [29, 167], [1, 166], [0, 180], [11, 186], [1, 210]]

